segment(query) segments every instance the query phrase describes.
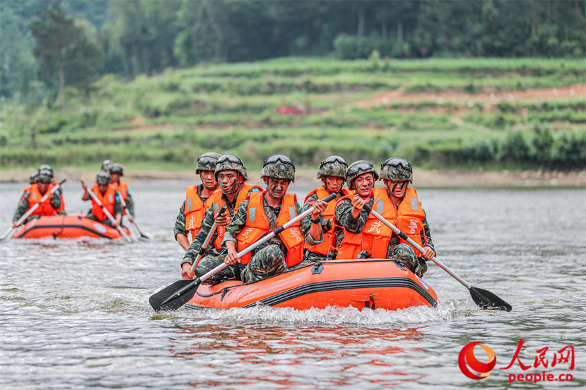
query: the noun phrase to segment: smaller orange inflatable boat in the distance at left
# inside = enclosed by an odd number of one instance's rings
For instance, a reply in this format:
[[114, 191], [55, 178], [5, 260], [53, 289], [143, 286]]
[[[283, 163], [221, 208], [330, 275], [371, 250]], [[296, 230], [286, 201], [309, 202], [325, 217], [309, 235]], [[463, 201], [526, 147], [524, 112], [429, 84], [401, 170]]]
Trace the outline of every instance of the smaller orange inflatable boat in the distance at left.
[[[128, 232], [128, 230], [126, 230]], [[85, 218], [85, 214], [41, 216], [17, 229], [12, 238], [120, 238], [114, 227]]]

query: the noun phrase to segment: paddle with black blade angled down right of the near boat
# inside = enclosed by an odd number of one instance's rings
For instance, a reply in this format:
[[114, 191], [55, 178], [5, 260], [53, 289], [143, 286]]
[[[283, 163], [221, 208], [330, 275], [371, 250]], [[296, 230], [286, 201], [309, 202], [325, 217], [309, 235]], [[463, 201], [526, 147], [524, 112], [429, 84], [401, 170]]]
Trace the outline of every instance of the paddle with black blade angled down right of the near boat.
[[[409, 236], [407, 236], [407, 234], [401, 232], [401, 230], [399, 230], [395, 225], [386, 220], [383, 216], [381, 216], [381, 214], [375, 212], [372, 209], [372, 207], [370, 207], [369, 205], [364, 205], [364, 209], [367, 212], [370, 212], [372, 215], [374, 215], [378, 220], [385, 224], [385, 226], [392, 229], [393, 232], [395, 232], [399, 237], [403, 238], [403, 240], [407, 241], [407, 243], [410, 243], [411, 245], [416, 247], [416, 249], [419, 252], [423, 252], [423, 248], [420, 245], [418, 245], [418, 243], [416, 243]], [[458, 282], [462, 283], [464, 287], [466, 287], [468, 291], [470, 291], [470, 295], [472, 296], [472, 300], [474, 300], [474, 303], [476, 303], [476, 305], [478, 305], [478, 307], [480, 307], [481, 309], [498, 309], [505, 311], [511, 311], [513, 309], [511, 305], [509, 305], [501, 298], [498, 298], [498, 296], [496, 296], [492, 292], [487, 291], [485, 289], [480, 289], [478, 287], [472, 287], [470, 283], [468, 283], [466, 280], [458, 276], [456, 272], [452, 271], [452, 269], [449, 269], [447, 265], [442, 263], [440, 260], [436, 259], [435, 256], [432, 258], [432, 261], [436, 263], [436, 265], [438, 265], [441, 269], [446, 271], [450, 276], [458, 280]]]

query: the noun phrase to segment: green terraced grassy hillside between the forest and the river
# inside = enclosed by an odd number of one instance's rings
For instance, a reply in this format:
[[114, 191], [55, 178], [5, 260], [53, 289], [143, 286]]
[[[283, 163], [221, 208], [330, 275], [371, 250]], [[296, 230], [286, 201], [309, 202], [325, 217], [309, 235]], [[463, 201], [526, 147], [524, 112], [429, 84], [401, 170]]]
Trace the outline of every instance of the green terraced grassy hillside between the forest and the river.
[[[168, 70], [91, 96], [68, 90], [0, 110], [5, 169], [50, 163], [191, 167], [208, 150], [252, 168], [274, 153], [300, 167], [330, 154], [421, 167], [586, 167], [586, 66], [580, 60], [286, 58]], [[302, 114], [279, 114], [278, 107]]]

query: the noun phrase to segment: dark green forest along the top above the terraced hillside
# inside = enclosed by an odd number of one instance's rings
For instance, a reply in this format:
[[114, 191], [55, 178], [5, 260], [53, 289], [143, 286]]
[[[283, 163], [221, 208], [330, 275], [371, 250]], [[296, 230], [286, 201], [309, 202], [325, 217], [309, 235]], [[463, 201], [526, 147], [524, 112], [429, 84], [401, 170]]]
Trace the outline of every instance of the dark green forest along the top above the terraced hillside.
[[[53, 1], [0, 1], [0, 97], [26, 96], [32, 85], [41, 94], [88, 85], [93, 75], [81, 81], [76, 74], [68, 84], [73, 76], [60, 72], [63, 61], [72, 61], [70, 68], [83, 62], [81, 52], [103, 52], [104, 65], [98, 61], [92, 74], [132, 78], [202, 61], [332, 52], [355, 59], [373, 50], [392, 58], [580, 58], [586, 51], [586, 0]], [[50, 14], [40, 10], [57, 8], [69, 16], [54, 14], [63, 18], [54, 21], [54, 30], [72, 28], [72, 19], [86, 19], [97, 29], [75, 43], [81, 52], [68, 52], [68, 59], [54, 48], [73, 45], [76, 34], [61, 43], [54, 34], [33, 39], [32, 27], [41, 23], [35, 12], [48, 21]]]

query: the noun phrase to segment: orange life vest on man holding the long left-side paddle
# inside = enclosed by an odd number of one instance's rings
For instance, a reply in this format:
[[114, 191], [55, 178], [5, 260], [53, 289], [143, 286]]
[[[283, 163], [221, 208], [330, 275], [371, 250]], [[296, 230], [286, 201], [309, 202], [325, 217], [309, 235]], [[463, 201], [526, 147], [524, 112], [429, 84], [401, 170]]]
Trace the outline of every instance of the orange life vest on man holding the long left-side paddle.
[[[265, 207], [263, 206], [263, 196], [265, 192], [254, 192], [250, 194], [248, 201], [248, 209], [246, 210], [246, 223], [242, 231], [236, 236], [238, 242], [239, 252], [243, 251], [250, 245], [256, 243], [265, 234], [270, 232], [270, 223], [267, 214], [265, 214]], [[276, 218], [277, 227], [284, 225], [297, 216], [297, 209], [295, 202], [297, 196], [295, 194], [285, 194], [281, 202], [281, 212]], [[299, 220], [279, 233], [279, 238], [287, 247], [287, 258], [285, 263], [287, 267], [293, 267], [301, 263], [303, 260], [303, 245], [305, 240], [301, 234], [301, 223]], [[242, 264], [248, 264], [252, 255], [249, 253], [242, 256], [240, 259]]]

